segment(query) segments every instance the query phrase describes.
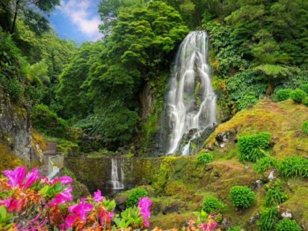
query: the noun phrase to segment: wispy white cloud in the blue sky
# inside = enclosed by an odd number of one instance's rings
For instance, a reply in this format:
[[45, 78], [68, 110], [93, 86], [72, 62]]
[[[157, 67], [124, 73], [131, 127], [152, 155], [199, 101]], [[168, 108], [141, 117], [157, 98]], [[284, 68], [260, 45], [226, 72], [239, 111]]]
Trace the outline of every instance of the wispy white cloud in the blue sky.
[[72, 20], [82, 34], [89, 40], [96, 41], [102, 35], [98, 30], [100, 19], [98, 15], [93, 15], [93, 6], [96, 7], [91, 0], [61, 0], [59, 9]]

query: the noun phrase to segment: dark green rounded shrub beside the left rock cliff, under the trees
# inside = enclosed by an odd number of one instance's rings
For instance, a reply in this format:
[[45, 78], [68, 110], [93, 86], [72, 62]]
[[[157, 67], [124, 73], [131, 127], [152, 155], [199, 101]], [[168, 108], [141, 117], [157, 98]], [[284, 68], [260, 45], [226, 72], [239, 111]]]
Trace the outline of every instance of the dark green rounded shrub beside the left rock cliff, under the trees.
[[48, 106], [37, 104], [32, 108], [32, 124], [40, 132], [52, 137], [65, 137], [67, 123]]

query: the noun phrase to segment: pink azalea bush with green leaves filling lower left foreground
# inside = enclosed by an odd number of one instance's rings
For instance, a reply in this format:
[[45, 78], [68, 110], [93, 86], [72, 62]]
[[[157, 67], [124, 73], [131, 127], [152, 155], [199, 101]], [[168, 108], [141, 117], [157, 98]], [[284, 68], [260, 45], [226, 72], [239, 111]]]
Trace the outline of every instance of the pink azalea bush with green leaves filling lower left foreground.
[[[0, 229], [101, 231], [117, 228], [112, 226], [113, 219], [118, 216], [113, 212], [115, 202], [105, 199], [100, 190], [94, 192], [93, 198], [73, 202], [73, 179], [69, 176], [49, 180], [41, 177], [37, 168], [26, 173], [25, 167], [2, 173], [5, 177], [0, 178], [0, 210], [7, 216], [1, 218]], [[151, 204], [149, 198], [140, 199], [141, 222], [135, 223], [136, 228], [149, 226]]]

